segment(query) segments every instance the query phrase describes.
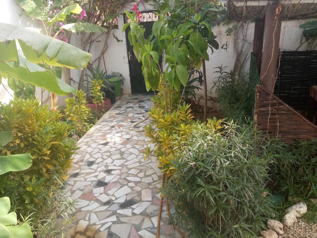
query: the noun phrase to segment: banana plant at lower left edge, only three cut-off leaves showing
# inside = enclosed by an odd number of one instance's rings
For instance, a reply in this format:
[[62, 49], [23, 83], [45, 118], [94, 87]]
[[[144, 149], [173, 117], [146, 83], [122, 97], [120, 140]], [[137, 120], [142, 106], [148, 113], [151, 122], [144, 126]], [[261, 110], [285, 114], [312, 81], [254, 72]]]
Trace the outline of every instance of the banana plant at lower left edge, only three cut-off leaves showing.
[[[10, 131], [0, 131], [0, 149], [12, 140]], [[31, 167], [32, 157], [29, 153], [19, 155], [0, 156], [0, 175], [9, 171], [20, 171]], [[28, 223], [17, 224], [15, 212], [10, 212], [10, 199], [0, 198], [0, 236], [3, 238], [32, 238]]]

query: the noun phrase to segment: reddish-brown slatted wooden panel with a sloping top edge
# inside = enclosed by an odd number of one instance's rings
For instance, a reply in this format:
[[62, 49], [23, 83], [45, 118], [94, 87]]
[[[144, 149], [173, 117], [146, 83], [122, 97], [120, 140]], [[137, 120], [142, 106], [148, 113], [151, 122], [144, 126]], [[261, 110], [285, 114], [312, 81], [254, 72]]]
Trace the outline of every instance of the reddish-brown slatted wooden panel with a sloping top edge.
[[317, 126], [271, 94], [262, 85], [256, 86], [254, 118], [256, 127], [283, 142], [317, 137]]

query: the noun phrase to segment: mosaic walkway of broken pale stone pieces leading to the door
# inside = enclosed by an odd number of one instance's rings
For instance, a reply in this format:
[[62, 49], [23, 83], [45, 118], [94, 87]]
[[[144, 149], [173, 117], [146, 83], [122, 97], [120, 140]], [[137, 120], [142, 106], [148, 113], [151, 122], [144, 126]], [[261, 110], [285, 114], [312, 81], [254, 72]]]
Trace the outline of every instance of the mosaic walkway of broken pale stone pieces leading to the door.
[[[162, 174], [154, 157], [144, 161], [145, 133], [131, 130], [151, 106], [151, 96], [125, 95], [79, 140], [66, 186], [77, 199], [67, 238], [156, 237]], [[160, 234], [181, 237], [168, 225], [165, 204]]]

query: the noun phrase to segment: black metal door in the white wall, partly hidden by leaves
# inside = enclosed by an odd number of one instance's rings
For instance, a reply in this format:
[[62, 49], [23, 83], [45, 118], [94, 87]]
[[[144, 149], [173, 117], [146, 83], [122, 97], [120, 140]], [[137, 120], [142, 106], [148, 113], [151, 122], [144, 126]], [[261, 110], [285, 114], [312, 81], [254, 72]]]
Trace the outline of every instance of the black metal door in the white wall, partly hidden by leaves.
[[[126, 16], [124, 17], [126, 20]], [[152, 34], [153, 21], [151, 22], [141, 22], [140, 25], [143, 25], [145, 28], [144, 37], [147, 38]], [[128, 61], [129, 61], [129, 70], [130, 70], [130, 82], [131, 82], [131, 91], [132, 94], [153, 94], [154, 92], [146, 90], [146, 85], [144, 77], [142, 74], [142, 63], [138, 62], [138, 59], [133, 53], [133, 46], [130, 44], [128, 39], [128, 32], [130, 27], [126, 29], [126, 42], [128, 50]]]

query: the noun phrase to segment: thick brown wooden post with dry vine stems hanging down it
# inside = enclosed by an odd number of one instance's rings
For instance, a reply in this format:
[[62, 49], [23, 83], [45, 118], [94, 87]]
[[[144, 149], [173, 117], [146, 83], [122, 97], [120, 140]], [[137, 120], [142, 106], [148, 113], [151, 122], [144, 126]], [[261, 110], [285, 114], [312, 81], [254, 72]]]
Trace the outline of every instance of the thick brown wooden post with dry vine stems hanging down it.
[[264, 45], [260, 79], [270, 92], [274, 91], [276, 65], [281, 35], [282, 5], [267, 5], [264, 23]]

